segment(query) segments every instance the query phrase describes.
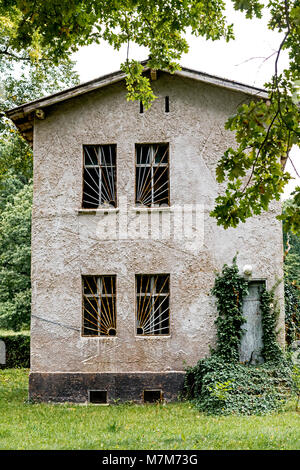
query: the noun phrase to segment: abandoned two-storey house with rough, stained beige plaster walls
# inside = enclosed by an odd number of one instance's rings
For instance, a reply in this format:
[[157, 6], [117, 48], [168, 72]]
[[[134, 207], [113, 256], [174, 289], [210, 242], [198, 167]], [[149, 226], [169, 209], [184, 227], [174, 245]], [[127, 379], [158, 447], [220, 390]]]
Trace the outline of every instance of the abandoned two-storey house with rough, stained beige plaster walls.
[[[282, 277], [280, 203], [236, 229], [209, 216], [224, 123], [263, 90], [182, 68], [119, 71], [7, 112], [34, 150], [30, 398], [174, 400], [215, 344], [215, 275], [249, 279], [241, 360], [259, 360], [259, 286]], [[284, 342], [282, 286], [279, 340]]]

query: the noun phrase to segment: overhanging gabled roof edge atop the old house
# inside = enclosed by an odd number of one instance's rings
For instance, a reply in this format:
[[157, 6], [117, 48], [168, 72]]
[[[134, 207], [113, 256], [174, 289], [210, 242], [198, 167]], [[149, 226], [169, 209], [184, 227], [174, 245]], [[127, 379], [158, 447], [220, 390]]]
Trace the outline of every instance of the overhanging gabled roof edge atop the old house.
[[[147, 67], [147, 61], [143, 61], [142, 65], [144, 65], [145, 72], [150, 70], [149, 67]], [[176, 71], [174, 75], [177, 75], [179, 77], [190, 78], [192, 80], [197, 80], [204, 83], [209, 83], [211, 85], [226, 88], [228, 90], [239, 91], [253, 97], [255, 96], [264, 99], [268, 97], [267, 92], [262, 88], [252, 87], [244, 83], [235, 82], [233, 80], [228, 80], [221, 77], [216, 77], [214, 75], [209, 75], [204, 72], [198, 72], [196, 70], [191, 70], [185, 67], [182, 67], [181, 70]], [[28, 142], [32, 142], [33, 120], [35, 112], [37, 110], [47, 108], [48, 106], [61, 103], [76, 96], [89, 93], [91, 91], [111, 85], [124, 79], [125, 73], [119, 70], [108, 75], [103, 75], [102, 77], [96, 78], [94, 80], [90, 80], [89, 82], [81, 83], [80, 85], [68, 88], [58, 93], [39, 98], [38, 100], [30, 101], [21, 106], [17, 106], [16, 108], [9, 109], [8, 111], [6, 111], [5, 114], [18, 127], [25, 139]]]

